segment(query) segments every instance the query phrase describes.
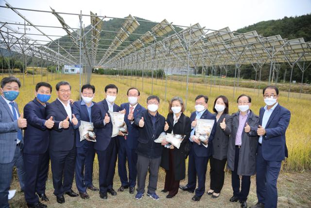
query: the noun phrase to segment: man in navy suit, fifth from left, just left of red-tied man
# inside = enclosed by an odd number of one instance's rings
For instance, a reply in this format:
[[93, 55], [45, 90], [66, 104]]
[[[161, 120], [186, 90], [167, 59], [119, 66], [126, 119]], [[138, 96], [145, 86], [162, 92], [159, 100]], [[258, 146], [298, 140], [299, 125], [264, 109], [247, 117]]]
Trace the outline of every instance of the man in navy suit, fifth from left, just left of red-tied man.
[[120, 107], [115, 104], [118, 87], [109, 84], [105, 87], [106, 98], [94, 105], [92, 121], [96, 133], [94, 149], [98, 156], [100, 197], [107, 199], [107, 192], [112, 196], [117, 195], [113, 189], [113, 177], [117, 162], [117, 139], [112, 136], [112, 123], [108, 111], [119, 112]]

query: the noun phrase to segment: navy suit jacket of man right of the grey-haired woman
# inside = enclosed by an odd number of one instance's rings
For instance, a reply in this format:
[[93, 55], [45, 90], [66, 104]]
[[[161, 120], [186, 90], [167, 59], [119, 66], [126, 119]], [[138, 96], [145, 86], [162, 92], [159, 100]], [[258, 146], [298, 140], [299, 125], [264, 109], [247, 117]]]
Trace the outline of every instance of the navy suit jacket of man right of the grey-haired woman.
[[[192, 121], [194, 121], [196, 117], [196, 113], [195, 112], [192, 112], [191, 115], [190, 115], [190, 121], [192, 123]], [[213, 144], [212, 144], [212, 141], [214, 139], [214, 135], [215, 135], [215, 132], [216, 132], [216, 125], [217, 125], [217, 122], [216, 122], [216, 116], [215, 114], [213, 113], [210, 113], [208, 110], [206, 110], [202, 116], [200, 117], [201, 119], [212, 119], [212, 120], [215, 120], [215, 123], [214, 123], [214, 126], [213, 126], [213, 129], [208, 137], [208, 146], [207, 148], [204, 147], [203, 145], [198, 145], [197, 143], [195, 142], [191, 142], [192, 143], [192, 148], [193, 148], [193, 151], [194, 153], [196, 154], [196, 156], [198, 157], [209, 157], [213, 154]]]

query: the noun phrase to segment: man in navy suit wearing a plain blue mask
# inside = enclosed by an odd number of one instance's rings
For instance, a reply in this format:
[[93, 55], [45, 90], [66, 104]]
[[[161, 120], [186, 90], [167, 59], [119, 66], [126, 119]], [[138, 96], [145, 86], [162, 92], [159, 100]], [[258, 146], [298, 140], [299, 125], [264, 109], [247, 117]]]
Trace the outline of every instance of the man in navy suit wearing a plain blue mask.
[[[29, 208], [46, 208], [39, 202], [49, 201], [45, 195], [45, 184], [49, 171], [50, 131], [54, 126], [53, 118], [46, 120], [45, 107], [51, 98], [52, 86], [39, 82], [35, 86], [35, 99], [24, 107], [28, 127], [24, 131], [23, 159], [26, 172], [25, 200]], [[35, 194], [37, 193], [38, 196]]]

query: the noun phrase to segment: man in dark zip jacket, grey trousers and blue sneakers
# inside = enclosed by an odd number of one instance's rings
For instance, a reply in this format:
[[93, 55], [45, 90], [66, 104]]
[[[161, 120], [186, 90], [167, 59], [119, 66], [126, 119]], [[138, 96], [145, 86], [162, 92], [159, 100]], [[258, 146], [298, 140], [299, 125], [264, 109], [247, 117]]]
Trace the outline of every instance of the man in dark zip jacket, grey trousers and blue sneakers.
[[137, 146], [137, 194], [136, 199], [141, 199], [145, 192], [145, 181], [149, 170], [149, 185], [147, 196], [154, 200], [160, 198], [155, 193], [158, 171], [161, 163], [162, 145], [155, 143], [161, 132], [164, 131], [165, 118], [157, 111], [160, 98], [150, 95], [147, 98], [147, 108], [135, 117], [135, 124], [139, 127]]

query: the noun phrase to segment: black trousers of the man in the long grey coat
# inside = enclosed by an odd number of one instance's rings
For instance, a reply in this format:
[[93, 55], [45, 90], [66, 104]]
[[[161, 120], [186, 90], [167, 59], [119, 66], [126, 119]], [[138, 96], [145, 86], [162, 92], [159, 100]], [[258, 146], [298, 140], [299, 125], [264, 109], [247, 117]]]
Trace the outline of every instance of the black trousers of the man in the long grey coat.
[[231, 182], [233, 195], [237, 196], [240, 201], [246, 201], [249, 193], [249, 189], [251, 187], [251, 176], [242, 175], [242, 183], [240, 190], [240, 176], [237, 173], [238, 165], [239, 165], [239, 153], [240, 149], [235, 148], [235, 158], [234, 158], [234, 171], [231, 171]]

